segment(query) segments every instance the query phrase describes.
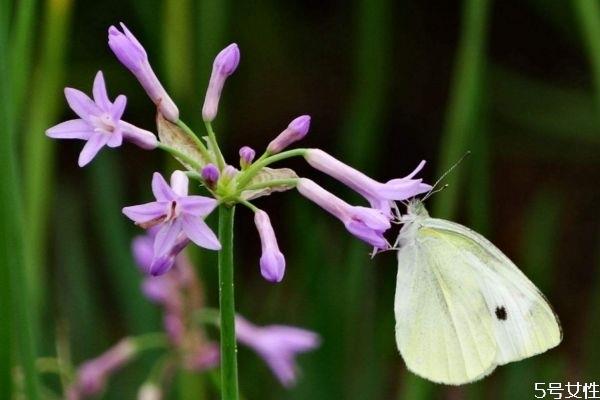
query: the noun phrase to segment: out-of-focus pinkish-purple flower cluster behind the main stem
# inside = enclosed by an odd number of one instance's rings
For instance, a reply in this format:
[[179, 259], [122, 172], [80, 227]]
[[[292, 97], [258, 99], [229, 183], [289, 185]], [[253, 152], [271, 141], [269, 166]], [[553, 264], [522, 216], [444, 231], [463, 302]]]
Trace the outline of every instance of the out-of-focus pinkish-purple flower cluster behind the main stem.
[[[146, 273], [153, 262], [155, 229], [149, 235], [138, 236], [132, 242], [132, 251], [140, 271]], [[218, 326], [212, 310], [204, 306], [203, 290], [195, 268], [185, 253], [174, 257], [169, 273], [146, 276], [142, 293], [163, 309], [166, 342], [156, 341], [180, 355], [176, 368], [203, 372], [219, 365], [218, 343], [208, 338], [205, 322]], [[309, 330], [287, 325], [257, 326], [237, 315], [236, 336], [240, 344], [256, 352], [269, 366], [279, 382], [293, 386], [298, 378], [296, 357], [319, 346], [319, 336]], [[144, 337], [124, 338], [100, 356], [84, 362], [77, 369], [76, 379], [67, 391], [69, 400], [78, 400], [102, 392], [111, 375], [133, 361], [144, 348], [150, 348]], [[150, 343], [153, 345], [156, 343]], [[161, 398], [165, 377], [153, 376], [139, 390], [152, 392]]]

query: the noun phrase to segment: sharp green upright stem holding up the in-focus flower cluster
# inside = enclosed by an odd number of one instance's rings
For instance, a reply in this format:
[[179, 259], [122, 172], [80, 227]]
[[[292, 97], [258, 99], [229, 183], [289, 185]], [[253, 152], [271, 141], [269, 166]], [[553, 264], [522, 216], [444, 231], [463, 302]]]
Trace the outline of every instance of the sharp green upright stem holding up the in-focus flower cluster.
[[233, 292], [233, 216], [235, 207], [219, 206], [219, 304], [221, 312], [222, 399], [238, 400], [235, 300]]

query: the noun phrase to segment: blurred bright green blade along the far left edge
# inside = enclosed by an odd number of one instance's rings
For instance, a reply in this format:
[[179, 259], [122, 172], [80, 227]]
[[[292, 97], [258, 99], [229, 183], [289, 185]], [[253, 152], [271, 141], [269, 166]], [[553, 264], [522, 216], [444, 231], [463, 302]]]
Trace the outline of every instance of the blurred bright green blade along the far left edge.
[[[0, 385], [5, 398], [14, 396], [11, 382], [11, 356], [23, 372], [24, 397], [40, 398], [35, 369], [35, 336], [32, 329], [32, 307], [29, 285], [24, 270], [21, 180], [19, 179], [18, 146], [15, 138], [12, 81], [7, 60], [10, 4], [0, 2]], [[12, 364], [14, 365], [14, 364]]]

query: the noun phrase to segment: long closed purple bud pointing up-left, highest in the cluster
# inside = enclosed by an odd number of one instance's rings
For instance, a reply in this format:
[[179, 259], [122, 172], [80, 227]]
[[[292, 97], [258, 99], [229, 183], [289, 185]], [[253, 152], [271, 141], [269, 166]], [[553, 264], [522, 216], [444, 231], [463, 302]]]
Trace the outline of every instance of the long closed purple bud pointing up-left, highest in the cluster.
[[161, 114], [169, 121], [177, 122], [179, 109], [152, 70], [146, 50], [123, 23], [121, 28], [123, 32], [114, 25], [108, 28], [108, 45], [121, 64], [135, 75]]

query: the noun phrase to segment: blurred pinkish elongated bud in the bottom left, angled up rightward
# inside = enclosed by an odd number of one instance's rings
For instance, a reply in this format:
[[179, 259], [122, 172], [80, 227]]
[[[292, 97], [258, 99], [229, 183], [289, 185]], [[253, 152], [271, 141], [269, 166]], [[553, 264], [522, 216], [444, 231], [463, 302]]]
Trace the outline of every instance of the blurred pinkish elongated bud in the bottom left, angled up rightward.
[[78, 398], [77, 395], [83, 397], [100, 393], [108, 377], [129, 362], [135, 353], [135, 345], [123, 339], [104, 354], [85, 362], [77, 371], [77, 380], [69, 390], [70, 396]]

